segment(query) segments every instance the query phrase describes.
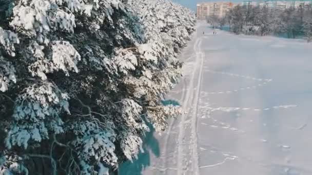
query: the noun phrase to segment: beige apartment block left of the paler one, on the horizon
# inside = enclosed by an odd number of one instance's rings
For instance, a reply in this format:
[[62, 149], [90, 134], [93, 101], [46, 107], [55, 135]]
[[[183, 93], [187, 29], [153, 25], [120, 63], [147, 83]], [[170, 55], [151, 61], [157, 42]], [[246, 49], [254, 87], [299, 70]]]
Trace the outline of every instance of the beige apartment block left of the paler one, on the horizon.
[[197, 4], [197, 18], [205, 19], [207, 16], [211, 15], [222, 17], [234, 6], [235, 4], [231, 2], [209, 2]]

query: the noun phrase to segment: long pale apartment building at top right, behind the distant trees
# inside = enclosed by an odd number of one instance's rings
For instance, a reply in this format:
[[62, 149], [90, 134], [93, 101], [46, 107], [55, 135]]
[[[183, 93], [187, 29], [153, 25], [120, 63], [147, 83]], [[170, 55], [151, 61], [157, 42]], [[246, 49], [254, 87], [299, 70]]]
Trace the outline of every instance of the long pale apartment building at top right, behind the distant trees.
[[278, 1], [278, 0], [267, 0], [267, 1], [243, 1], [242, 5], [248, 7], [266, 7], [268, 10], [276, 10], [276, 11], [284, 11], [291, 8], [298, 9], [299, 7], [307, 8], [312, 5], [312, 1], [304, 1], [304, 0], [285, 0], [285, 1]]

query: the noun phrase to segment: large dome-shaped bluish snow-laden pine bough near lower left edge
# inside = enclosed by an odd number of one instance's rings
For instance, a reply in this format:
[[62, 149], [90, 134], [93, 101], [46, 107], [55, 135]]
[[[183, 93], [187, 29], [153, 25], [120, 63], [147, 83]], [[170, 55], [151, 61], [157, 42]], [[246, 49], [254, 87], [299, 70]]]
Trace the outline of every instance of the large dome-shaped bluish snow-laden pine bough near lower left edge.
[[63, 133], [63, 112], [70, 114], [68, 95], [52, 83], [34, 84], [26, 88], [15, 100], [12, 123], [6, 146], [20, 146], [25, 149], [29, 141], [41, 142], [49, 132]]

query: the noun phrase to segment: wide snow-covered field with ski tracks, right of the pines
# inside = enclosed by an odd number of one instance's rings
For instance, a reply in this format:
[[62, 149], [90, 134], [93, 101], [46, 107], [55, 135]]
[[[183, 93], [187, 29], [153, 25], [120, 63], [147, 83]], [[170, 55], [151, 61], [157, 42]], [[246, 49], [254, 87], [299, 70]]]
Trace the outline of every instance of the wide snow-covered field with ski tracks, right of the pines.
[[301, 40], [212, 35], [199, 25], [169, 95], [188, 114], [149, 136], [120, 173], [312, 174], [311, 58]]

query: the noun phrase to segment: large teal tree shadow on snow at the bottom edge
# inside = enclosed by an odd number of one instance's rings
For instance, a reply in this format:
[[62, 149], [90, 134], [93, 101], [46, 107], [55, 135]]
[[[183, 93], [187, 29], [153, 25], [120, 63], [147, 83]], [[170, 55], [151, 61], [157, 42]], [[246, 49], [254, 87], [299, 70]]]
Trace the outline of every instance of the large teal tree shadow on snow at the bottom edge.
[[150, 154], [160, 157], [160, 147], [158, 140], [154, 137], [155, 130], [149, 124], [150, 132], [146, 134], [143, 141], [144, 152], [138, 155], [138, 159], [124, 162], [119, 166], [119, 175], [141, 175], [142, 171], [150, 166]]

